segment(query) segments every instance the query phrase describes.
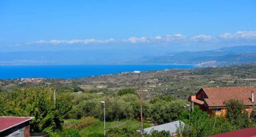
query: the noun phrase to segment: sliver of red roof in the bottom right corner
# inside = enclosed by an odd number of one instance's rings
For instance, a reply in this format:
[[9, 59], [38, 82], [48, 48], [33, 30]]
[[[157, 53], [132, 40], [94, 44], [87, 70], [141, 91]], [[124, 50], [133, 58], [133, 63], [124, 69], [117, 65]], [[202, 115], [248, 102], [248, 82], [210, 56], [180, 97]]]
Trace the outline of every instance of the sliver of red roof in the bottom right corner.
[[232, 132], [226, 132], [222, 134], [216, 134], [210, 137], [226, 137], [226, 136], [232, 136], [232, 137], [253, 137], [256, 136], [256, 127], [254, 128], [246, 128], [243, 130], [236, 130]]

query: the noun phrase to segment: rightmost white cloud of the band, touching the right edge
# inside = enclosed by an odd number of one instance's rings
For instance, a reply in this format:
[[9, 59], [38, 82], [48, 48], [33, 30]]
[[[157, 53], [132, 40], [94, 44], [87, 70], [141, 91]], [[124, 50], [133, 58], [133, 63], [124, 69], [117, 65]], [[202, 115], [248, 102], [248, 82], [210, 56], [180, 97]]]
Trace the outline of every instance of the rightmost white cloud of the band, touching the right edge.
[[245, 39], [245, 40], [256, 40], [256, 30], [252, 31], [238, 31], [234, 34], [226, 33], [220, 35], [223, 39]]

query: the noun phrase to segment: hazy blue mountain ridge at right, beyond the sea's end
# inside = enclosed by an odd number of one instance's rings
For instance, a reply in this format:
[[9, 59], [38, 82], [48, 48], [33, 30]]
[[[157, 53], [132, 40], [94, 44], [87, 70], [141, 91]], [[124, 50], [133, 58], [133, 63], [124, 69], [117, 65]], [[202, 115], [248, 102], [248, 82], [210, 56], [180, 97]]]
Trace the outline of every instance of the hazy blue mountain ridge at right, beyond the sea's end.
[[143, 63], [230, 66], [256, 62], [256, 46], [234, 46], [201, 52], [176, 52], [143, 58]]

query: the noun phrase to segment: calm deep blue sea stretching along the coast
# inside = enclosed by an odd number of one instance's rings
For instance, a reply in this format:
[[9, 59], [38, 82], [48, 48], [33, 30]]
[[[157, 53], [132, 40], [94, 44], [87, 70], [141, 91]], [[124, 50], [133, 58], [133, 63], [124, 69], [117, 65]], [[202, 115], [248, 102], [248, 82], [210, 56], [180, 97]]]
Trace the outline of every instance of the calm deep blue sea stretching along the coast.
[[84, 64], [84, 65], [41, 65], [41, 66], [0, 66], [0, 79], [29, 77], [79, 78], [115, 74], [128, 71], [153, 71], [167, 68], [197, 68], [191, 65], [169, 64]]

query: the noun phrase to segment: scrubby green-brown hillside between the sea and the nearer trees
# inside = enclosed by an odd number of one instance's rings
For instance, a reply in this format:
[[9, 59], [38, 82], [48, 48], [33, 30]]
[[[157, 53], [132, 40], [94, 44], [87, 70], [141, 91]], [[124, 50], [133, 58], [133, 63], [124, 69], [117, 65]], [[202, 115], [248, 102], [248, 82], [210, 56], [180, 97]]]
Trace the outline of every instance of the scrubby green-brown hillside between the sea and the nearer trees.
[[[115, 94], [118, 89], [137, 88], [137, 75], [119, 73], [80, 79], [28, 79], [0, 80], [4, 90], [24, 86], [52, 86], [58, 91], [83, 91], [90, 93]], [[238, 66], [207, 67], [196, 69], [168, 69], [141, 73], [143, 97], [171, 94], [181, 99], [196, 93], [201, 87], [256, 86], [256, 64]]]

